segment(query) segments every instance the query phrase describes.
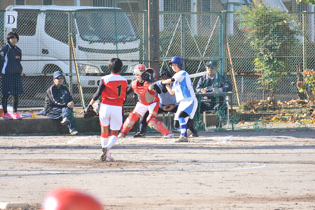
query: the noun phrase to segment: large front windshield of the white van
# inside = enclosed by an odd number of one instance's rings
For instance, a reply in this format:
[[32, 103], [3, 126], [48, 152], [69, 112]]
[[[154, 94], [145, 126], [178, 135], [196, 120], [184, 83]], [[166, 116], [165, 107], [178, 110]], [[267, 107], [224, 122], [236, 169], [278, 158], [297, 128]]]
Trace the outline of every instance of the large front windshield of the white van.
[[75, 13], [75, 19], [80, 37], [85, 41], [117, 41], [125, 43], [136, 40], [136, 35], [126, 13], [114, 14], [80, 12]]

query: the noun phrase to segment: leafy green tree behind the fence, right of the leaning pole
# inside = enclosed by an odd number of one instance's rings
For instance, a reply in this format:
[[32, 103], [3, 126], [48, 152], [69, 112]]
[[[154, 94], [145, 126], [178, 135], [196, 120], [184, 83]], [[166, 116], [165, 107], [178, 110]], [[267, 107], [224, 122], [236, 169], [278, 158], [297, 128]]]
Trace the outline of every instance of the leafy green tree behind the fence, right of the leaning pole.
[[283, 72], [289, 71], [288, 57], [298, 39], [299, 27], [296, 17], [282, 12], [279, 8], [253, 1], [244, 5], [238, 13], [242, 17], [242, 27], [248, 33], [250, 45], [255, 52], [254, 70], [261, 75], [258, 83], [269, 96], [274, 96]]

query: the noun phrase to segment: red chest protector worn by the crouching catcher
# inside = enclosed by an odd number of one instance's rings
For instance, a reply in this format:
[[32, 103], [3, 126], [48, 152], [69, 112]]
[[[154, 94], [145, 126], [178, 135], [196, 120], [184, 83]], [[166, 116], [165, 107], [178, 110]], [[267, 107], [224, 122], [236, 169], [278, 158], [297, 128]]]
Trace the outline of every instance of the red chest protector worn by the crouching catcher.
[[133, 91], [138, 95], [139, 102], [143, 105], [150, 105], [154, 102], [158, 102], [159, 99], [154, 90], [149, 90], [149, 83], [144, 82], [143, 86], [135, 80], [131, 83]]

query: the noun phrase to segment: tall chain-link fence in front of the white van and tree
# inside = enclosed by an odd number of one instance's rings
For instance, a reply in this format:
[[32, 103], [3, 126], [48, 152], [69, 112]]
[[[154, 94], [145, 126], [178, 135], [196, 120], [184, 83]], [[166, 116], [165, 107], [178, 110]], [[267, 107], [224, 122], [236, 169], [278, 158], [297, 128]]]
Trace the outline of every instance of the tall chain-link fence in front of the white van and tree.
[[[228, 129], [236, 129], [234, 124], [246, 120], [262, 122], [267, 119], [266, 123], [272, 123], [269, 117], [275, 115], [281, 115], [278, 118], [284, 120], [287, 112], [282, 110], [288, 106], [299, 110], [298, 105], [302, 102], [297, 102], [298, 99], [309, 99], [310, 102], [302, 104], [309, 103], [307, 107], [311, 110], [312, 86], [305, 83], [302, 73], [306, 68], [314, 69], [315, 65], [314, 6], [301, 3], [294, 4], [292, 9], [292, 3], [277, 2], [160, 0], [154, 24], [145, 1], [121, 2], [118, 6], [124, 10], [109, 1], [101, 5], [111, 8], [8, 7], [7, 11], [17, 12], [17, 27], [7, 28], [6, 12], [1, 12], [3, 37], [9, 31], [16, 31], [20, 37], [17, 46], [23, 55], [24, 93], [20, 96], [19, 107], [43, 107], [45, 92], [57, 70], [66, 75], [65, 82], [78, 102], [76, 106], [81, 107], [76, 68], [84, 102], [88, 104], [101, 76], [109, 74], [107, 63], [111, 58], [118, 57], [123, 61], [121, 74], [130, 84], [135, 79], [132, 70], [136, 64], [158, 61], [158, 70], [172, 72], [167, 61], [173, 56], [181, 56], [185, 62], [184, 70], [189, 74], [205, 72], [206, 62], [216, 61], [217, 74], [224, 75], [231, 83], [233, 100], [229, 103], [234, 106], [234, 117], [229, 116], [228, 123], [232, 126]], [[259, 10], [255, 5], [261, 5], [263, 9]], [[306, 12], [302, 12], [305, 8]], [[249, 18], [251, 10], [260, 11], [260, 19]], [[149, 59], [149, 26], [158, 29], [158, 35], [155, 34], [159, 39], [158, 60]], [[6, 44], [5, 38], [3, 44]], [[191, 78], [194, 89], [199, 79]], [[301, 83], [306, 88], [298, 91]], [[202, 96], [197, 97], [202, 104]], [[294, 106], [292, 100], [295, 100]], [[280, 106], [289, 102], [290, 105]], [[124, 106], [133, 107], [135, 103], [131, 94]], [[257, 117], [258, 114], [266, 115]], [[202, 122], [202, 115], [199, 110], [195, 121]], [[246, 119], [245, 115], [248, 115]], [[309, 120], [310, 115], [306, 115]]]

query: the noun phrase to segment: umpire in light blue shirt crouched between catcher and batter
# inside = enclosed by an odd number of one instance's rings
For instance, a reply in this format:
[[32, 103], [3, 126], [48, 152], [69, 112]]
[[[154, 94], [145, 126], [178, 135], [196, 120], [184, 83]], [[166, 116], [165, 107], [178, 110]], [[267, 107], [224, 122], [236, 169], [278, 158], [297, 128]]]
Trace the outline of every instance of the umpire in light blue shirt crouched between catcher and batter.
[[[161, 85], [161, 83], [160, 83], [163, 80], [170, 79], [172, 77], [171, 72], [169, 72], [167, 69], [163, 69], [161, 71], [159, 77], [160, 77], [160, 80], [157, 82], [157, 85], [158, 85], [159, 89], [162, 90], [162, 92], [157, 93], [158, 98], [159, 98], [158, 114], [165, 113], [165, 112], [166, 113], [168, 113], [168, 112], [176, 113], [179, 102], [176, 102], [175, 94], [171, 95], [167, 91], [165, 85]], [[170, 86], [172, 87], [173, 85], [170, 84]], [[146, 119], [148, 116], [149, 116], [149, 112], [146, 112], [146, 114], [144, 114], [144, 116], [141, 118], [140, 131], [133, 136], [134, 138], [146, 136], [147, 126], [148, 126], [148, 122], [146, 121]], [[198, 137], [199, 135], [198, 135], [197, 131], [194, 129], [193, 120], [189, 118], [187, 124], [188, 124], [189, 130], [192, 132], [192, 136]]]

